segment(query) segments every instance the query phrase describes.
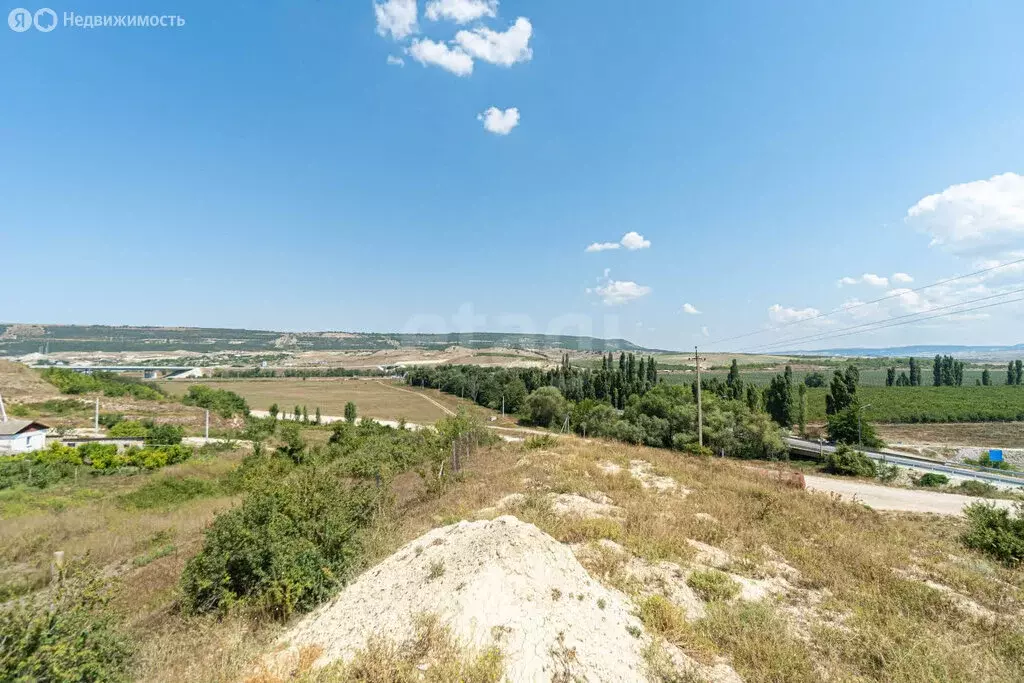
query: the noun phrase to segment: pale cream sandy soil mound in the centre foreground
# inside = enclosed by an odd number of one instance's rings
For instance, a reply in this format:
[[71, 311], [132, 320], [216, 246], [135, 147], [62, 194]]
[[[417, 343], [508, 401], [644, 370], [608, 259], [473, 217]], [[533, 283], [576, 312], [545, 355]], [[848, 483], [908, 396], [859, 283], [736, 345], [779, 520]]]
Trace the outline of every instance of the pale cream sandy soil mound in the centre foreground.
[[[436, 614], [464, 642], [497, 644], [510, 681], [564, 676], [567, 658], [565, 680], [643, 681], [650, 639], [633, 611], [567, 547], [504, 516], [429, 531], [305, 617], [285, 641], [293, 650], [323, 648], [314, 665], [323, 667], [350, 658], [372, 635], [406, 640], [417, 614]], [[720, 678], [689, 660], [683, 666]]]

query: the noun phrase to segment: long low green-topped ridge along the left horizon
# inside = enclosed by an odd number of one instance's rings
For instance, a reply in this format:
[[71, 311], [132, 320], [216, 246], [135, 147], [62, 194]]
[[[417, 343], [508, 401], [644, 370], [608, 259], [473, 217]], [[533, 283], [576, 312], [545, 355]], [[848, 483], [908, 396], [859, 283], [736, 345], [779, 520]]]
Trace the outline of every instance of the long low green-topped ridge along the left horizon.
[[500, 332], [399, 334], [273, 332], [222, 328], [109, 327], [0, 324], [0, 356], [40, 351], [361, 351], [388, 348], [528, 348], [653, 352], [626, 339]]

